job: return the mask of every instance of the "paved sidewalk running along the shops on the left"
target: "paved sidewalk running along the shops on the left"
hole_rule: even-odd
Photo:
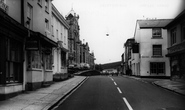
[[[0,101],[0,110],[48,110],[82,84],[87,77],[74,76],[36,91],[26,91],[13,98]]]

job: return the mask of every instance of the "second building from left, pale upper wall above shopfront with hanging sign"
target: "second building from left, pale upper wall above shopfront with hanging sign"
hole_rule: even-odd
[[[57,39],[51,34],[51,0],[24,0],[26,40],[26,90],[35,90],[53,81],[53,48]]]

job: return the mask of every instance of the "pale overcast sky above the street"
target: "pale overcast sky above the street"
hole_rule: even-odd
[[[96,64],[121,61],[124,43],[134,36],[136,20],[174,19],[185,9],[184,0],[53,0],[52,3],[64,17],[71,9],[79,15],[80,40],[88,42]]]

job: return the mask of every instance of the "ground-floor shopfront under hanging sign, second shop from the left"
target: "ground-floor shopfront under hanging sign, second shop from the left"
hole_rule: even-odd
[[[26,40],[26,90],[36,90],[53,81],[52,48],[56,46],[41,33],[30,31]]]

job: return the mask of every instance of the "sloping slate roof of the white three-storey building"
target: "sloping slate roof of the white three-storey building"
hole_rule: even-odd
[[[137,20],[140,28],[165,27],[172,19]]]

